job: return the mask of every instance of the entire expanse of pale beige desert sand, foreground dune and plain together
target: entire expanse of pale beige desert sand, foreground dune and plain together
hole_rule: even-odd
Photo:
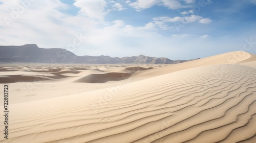
[[[255,55],[231,52],[163,67],[4,67],[5,82],[44,81],[36,96],[10,99],[0,142],[256,142],[255,65]],[[10,94],[27,83],[9,83]]]

